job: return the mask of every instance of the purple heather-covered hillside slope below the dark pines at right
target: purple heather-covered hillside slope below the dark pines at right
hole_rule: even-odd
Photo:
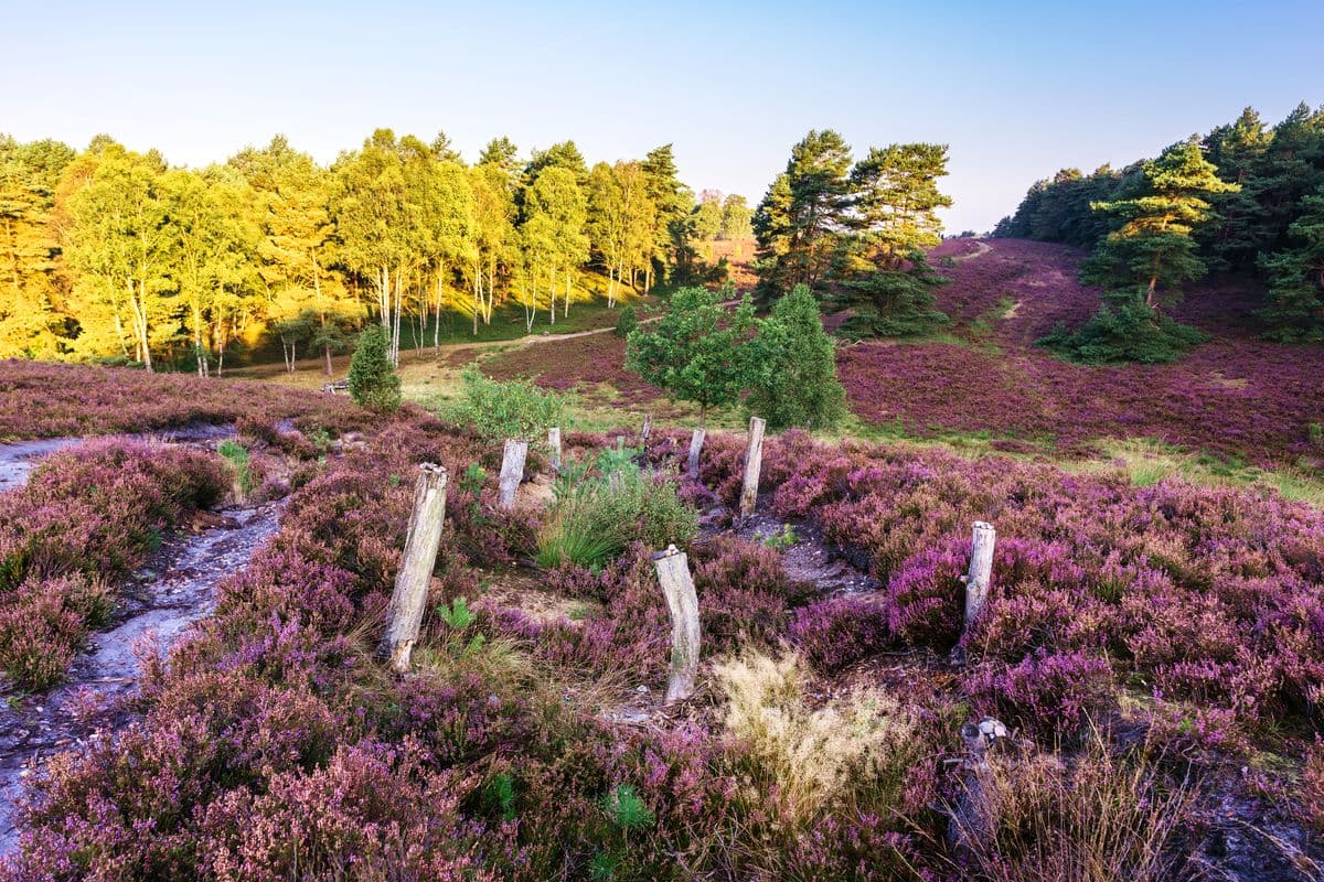
[[[951,279],[939,305],[956,341],[843,348],[842,382],[870,424],[914,434],[981,432],[1004,447],[1088,452],[1100,439],[1152,438],[1260,463],[1324,458],[1324,349],[1254,337],[1254,292],[1193,286],[1174,312],[1211,335],[1174,365],[1080,366],[1033,346],[1083,321],[1099,291],[1076,282],[1082,253],[1022,239],[957,239],[935,250]],[[1198,317],[1197,317],[1198,316]]]

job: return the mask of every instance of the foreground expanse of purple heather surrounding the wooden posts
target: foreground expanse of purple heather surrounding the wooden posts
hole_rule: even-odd
[[[556,492],[531,463],[502,512],[499,444],[414,409],[320,448],[241,428],[273,471],[295,463],[279,532],[150,661],[136,722],[36,776],[0,878],[1166,878],[1205,854],[1215,796],[1267,824],[1280,793],[1274,822],[1319,822],[1324,516],[1304,505],[786,432],[760,512],[792,529],[768,543],[727,508],[736,435],[710,438],[694,481],[687,432],[620,452],[567,432]],[[451,475],[448,520],[397,677],[375,647],[421,461]],[[49,473],[28,489],[90,483]],[[539,561],[560,499],[636,481],[696,506],[698,534],[641,509],[629,525],[655,530],[600,559]],[[181,483],[154,510],[214,501]],[[1000,538],[965,629],[974,520]],[[651,553],[673,536],[703,653],[698,694],[667,707]],[[792,578],[805,543],[878,588]],[[97,604],[83,575],[66,606]],[[955,760],[985,714],[1016,750],[980,778]],[[960,807],[977,780],[1002,809],[976,848]]]

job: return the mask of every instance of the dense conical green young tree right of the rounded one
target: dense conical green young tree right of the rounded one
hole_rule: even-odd
[[[751,376],[745,410],[772,428],[829,428],[846,414],[846,391],[837,380],[837,348],[824,331],[818,300],[797,284],[759,323],[749,344]]]

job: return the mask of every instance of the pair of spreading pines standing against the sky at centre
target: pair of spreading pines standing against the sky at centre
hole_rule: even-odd
[[[846,336],[914,336],[947,321],[943,282],[924,250],[941,241],[945,144],[871,147],[859,160],[831,130],[790,151],[753,217],[760,295],[808,286],[831,311],[850,311]]]

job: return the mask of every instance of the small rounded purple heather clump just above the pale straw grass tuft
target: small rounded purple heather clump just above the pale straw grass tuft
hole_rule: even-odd
[[[796,610],[790,643],[825,673],[879,652],[888,639],[887,604],[878,596],[839,596]]]

